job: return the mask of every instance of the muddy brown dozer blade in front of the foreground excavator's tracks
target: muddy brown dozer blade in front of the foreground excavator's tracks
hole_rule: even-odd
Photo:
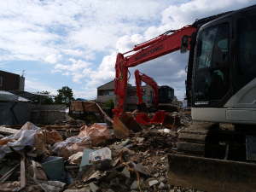
[[[256,189],[256,165],[168,154],[168,184],[207,192],[249,192]]]

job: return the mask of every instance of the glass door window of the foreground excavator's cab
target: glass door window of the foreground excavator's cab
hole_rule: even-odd
[[[206,29],[199,39],[196,101],[221,100],[230,90],[229,26]]]

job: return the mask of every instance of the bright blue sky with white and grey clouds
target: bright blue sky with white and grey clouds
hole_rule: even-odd
[[[114,79],[116,55],[195,19],[245,8],[255,0],[2,0],[0,69],[25,70],[27,91],[62,86],[92,99]],[[183,98],[188,53],[179,51],[133,67]]]

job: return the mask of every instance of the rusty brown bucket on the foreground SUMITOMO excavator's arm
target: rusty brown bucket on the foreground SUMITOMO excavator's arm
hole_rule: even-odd
[[[113,133],[119,139],[131,136],[132,133],[143,131],[141,125],[133,118],[131,113],[113,118]]]

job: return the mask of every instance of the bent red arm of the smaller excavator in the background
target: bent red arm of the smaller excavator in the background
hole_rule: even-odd
[[[152,93],[153,100],[154,100],[154,106],[158,105],[158,85],[154,81],[153,78],[148,77],[147,75],[141,73],[136,70],[135,71],[135,79],[136,79],[136,89],[137,89],[137,97],[139,102],[137,102],[137,105],[143,104],[143,94],[142,94],[142,81],[146,84],[149,84],[152,89],[154,90]]]

